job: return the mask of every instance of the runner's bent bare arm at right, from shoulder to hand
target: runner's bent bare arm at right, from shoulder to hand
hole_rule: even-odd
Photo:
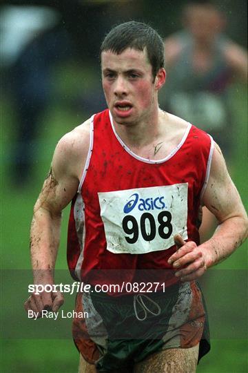
[[[215,145],[203,203],[216,216],[218,227],[214,235],[198,247],[195,242],[184,242],[176,236],[180,249],[169,258],[169,263],[178,269],[176,276],[183,281],[202,276],[207,268],[225,260],[247,238],[247,214],[218,145]],[[183,266],[185,268],[180,269]]]

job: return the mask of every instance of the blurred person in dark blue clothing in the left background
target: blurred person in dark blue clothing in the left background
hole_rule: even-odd
[[[10,71],[10,84],[17,114],[12,183],[26,187],[32,180],[37,157],[37,135],[51,99],[51,70],[70,58],[72,42],[60,27],[43,32],[21,52]]]

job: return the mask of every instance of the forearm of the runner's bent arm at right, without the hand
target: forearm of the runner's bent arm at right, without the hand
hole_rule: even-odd
[[[200,245],[207,267],[212,267],[230,256],[247,238],[247,219],[234,217],[218,225],[214,235]]]

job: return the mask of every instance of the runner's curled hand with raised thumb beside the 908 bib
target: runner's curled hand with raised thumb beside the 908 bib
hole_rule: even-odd
[[[174,242],[178,250],[169,257],[168,263],[176,269],[175,276],[183,282],[193,281],[203,276],[207,265],[205,256],[196,242],[185,242],[180,234],[174,236]]]

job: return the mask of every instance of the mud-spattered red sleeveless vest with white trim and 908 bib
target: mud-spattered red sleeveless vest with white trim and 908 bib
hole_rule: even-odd
[[[172,153],[149,161],[125,146],[109,110],[94,115],[68,225],[72,276],[96,285],[116,283],[116,270],[132,282],[138,269],[170,269],[166,283],[176,283],[167,263],[176,251],[173,236],[199,244],[198,210],[213,149],[211,137],[188,124]],[[115,271],[106,278],[108,270]]]

